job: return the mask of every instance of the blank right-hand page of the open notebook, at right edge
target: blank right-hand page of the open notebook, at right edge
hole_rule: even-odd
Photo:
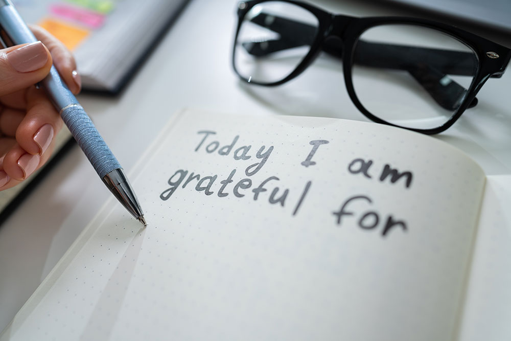
[[[511,175],[487,177],[459,339],[511,339]]]

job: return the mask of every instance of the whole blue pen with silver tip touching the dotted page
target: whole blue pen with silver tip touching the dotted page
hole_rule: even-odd
[[[37,39],[9,0],[0,0],[0,37],[6,47],[36,42]],[[106,187],[135,219],[147,225],[138,199],[117,158],[99,134],[83,107],[52,65],[41,81],[62,120],[78,142]]]

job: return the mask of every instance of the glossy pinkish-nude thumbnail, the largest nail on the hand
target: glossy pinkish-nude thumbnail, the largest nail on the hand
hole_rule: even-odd
[[[48,53],[42,42],[37,41],[9,52],[7,60],[16,71],[31,72],[48,62]]]

